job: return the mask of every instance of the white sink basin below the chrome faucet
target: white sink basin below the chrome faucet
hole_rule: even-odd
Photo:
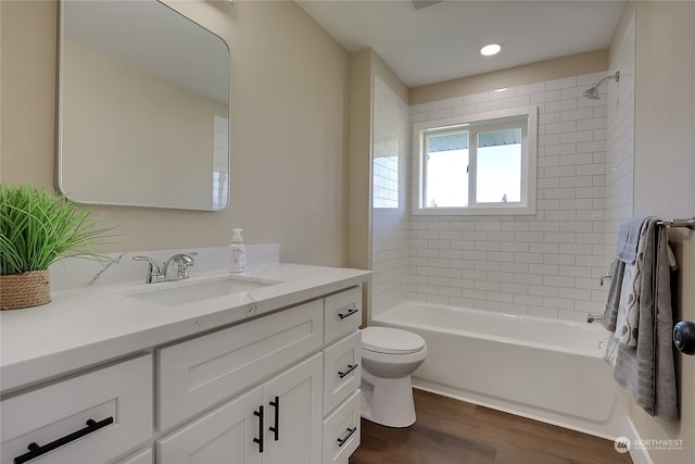
[[[202,281],[170,281],[164,284],[151,284],[151,289],[138,293],[129,293],[129,298],[140,301],[167,306],[194,303],[207,300],[242,293],[256,288],[281,284],[273,280],[245,279],[241,277],[219,277]],[[161,286],[157,288],[157,286]]]

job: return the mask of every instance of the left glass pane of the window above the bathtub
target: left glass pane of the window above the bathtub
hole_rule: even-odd
[[[427,137],[424,208],[468,205],[468,133]]]

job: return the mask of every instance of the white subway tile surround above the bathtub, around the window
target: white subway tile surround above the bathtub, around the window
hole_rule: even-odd
[[[611,221],[618,222],[632,211],[627,205],[632,199],[627,159],[632,153],[626,126],[633,111],[624,103],[628,96],[623,97],[623,92],[632,95],[631,90],[620,89],[616,101],[615,83],[604,83],[601,100],[582,97],[605,75],[607,72],[409,108],[406,141],[397,148],[401,204],[388,212],[374,210],[372,313],[399,299],[574,321],[585,321],[589,312],[603,312],[606,290],[598,286],[598,277],[607,269],[615,246],[608,241],[615,235],[606,230],[606,209]],[[383,83],[375,85],[375,100],[389,92]],[[392,92],[386,100],[375,111],[381,111],[383,104],[392,109],[402,104]],[[609,102],[619,113],[610,128]],[[538,104],[540,110],[535,215],[409,215],[410,197],[405,192],[413,188],[413,123],[528,104]],[[397,120],[392,113],[389,117]],[[375,138],[377,134],[381,136],[375,130]],[[609,137],[619,147],[620,161],[616,162],[624,168],[607,173],[615,158],[607,155]]]

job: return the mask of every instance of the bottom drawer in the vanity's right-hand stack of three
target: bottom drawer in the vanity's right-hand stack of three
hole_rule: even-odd
[[[359,390],[324,419],[324,464],[348,463],[359,446]]]

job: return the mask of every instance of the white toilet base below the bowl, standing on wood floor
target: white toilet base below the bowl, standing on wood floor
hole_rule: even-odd
[[[362,417],[387,427],[415,424],[415,402],[410,376],[375,377],[362,371]]]

